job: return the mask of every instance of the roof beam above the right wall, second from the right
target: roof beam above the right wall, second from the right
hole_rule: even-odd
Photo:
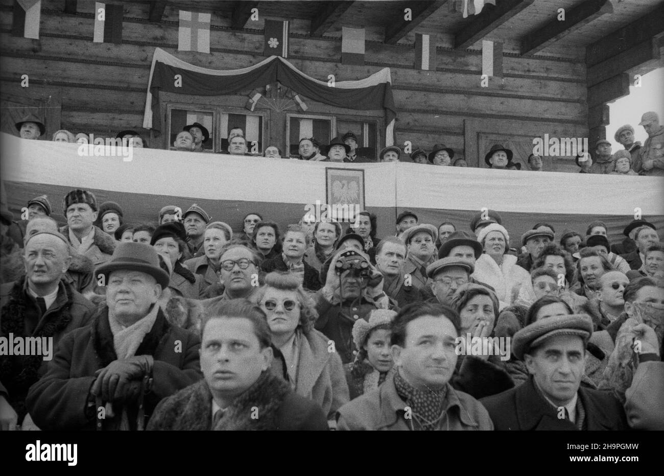
[[[559,21],[558,15],[556,15],[544,27],[538,27],[525,35],[521,40],[521,54],[537,53],[606,13],[614,13],[614,6],[610,0],[584,1],[571,10],[565,11],[564,20]]]

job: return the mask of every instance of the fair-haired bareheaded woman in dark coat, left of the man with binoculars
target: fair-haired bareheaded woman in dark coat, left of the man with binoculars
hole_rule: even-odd
[[[322,285],[317,270],[303,260],[304,253],[309,246],[307,230],[300,225],[288,225],[282,240],[281,254],[272,260],[262,262],[261,269],[266,273],[279,271],[293,274],[297,276],[307,291],[321,289]]]

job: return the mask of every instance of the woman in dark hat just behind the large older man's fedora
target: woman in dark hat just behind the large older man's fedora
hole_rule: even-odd
[[[158,254],[168,258],[171,264],[169,289],[174,296],[199,299],[205,290],[205,281],[200,275],[193,274],[182,265],[187,252],[185,226],[180,222],[169,222],[157,226],[150,240]]]

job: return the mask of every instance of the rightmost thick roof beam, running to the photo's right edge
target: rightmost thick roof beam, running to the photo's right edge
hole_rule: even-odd
[[[586,47],[586,65],[594,66],[664,33],[664,3],[638,20]]]

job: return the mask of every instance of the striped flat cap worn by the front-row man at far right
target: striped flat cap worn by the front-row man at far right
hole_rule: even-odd
[[[586,314],[545,317],[515,333],[512,338],[512,353],[523,360],[524,354],[556,335],[578,335],[583,339],[585,348],[592,335],[592,321]]]

